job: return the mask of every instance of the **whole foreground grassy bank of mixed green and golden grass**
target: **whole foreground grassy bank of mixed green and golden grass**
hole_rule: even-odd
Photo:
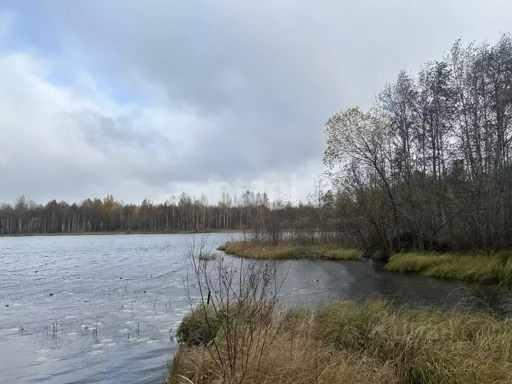
[[[165,382],[512,382],[509,319],[385,301],[268,308],[187,315]]]

